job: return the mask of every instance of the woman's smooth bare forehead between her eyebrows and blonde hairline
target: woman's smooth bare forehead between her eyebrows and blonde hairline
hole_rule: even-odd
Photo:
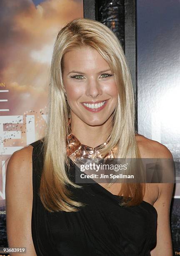
[[[77,69],[81,71],[90,69],[109,68],[105,59],[98,51],[90,46],[75,47],[63,56],[64,69]],[[83,69],[83,70],[82,70]]]

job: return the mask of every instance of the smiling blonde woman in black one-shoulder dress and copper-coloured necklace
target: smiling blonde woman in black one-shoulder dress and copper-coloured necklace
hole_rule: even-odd
[[[173,255],[173,184],[75,183],[80,158],[173,159],[135,131],[130,71],[114,33],[89,19],[62,28],[49,90],[45,136],[8,162],[9,246],[43,256]]]

